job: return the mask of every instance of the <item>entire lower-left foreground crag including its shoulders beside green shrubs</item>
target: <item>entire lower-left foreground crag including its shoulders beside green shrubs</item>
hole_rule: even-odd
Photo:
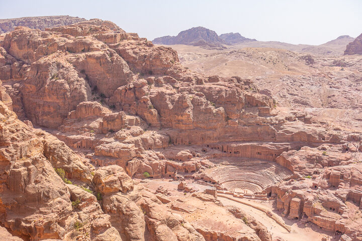
[[[0,106],[1,224],[13,234],[33,241],[63,240],[75,222],[86,222],[84,228],[92,229],[92,240],[121,241],[96,197],[66,185],[55,172],[62,169],[65,177],[90,183],[90,171],[80,158],[55,137],[20,122],[3,102]],[[79,204],[74,206],[72,201]],[[92,216],[95,214],[97,217]],[[4,240],[17,240],[1,235],[5,235]]]

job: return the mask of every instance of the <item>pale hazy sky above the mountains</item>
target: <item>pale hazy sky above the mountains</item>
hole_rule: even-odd
[[[110,20],[149,40],[197,26],[314,45],[362,33],[362,0],[0,0],[0,19],[53,15]]]

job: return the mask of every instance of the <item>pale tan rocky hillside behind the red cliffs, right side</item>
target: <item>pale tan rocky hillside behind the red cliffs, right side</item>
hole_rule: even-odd
[[[325,57],[274,48],[211,52],[172,47],[184,66],[210,75],[250,78],[280,106],[354,109],[357,113],[362,109],[360,56]]]

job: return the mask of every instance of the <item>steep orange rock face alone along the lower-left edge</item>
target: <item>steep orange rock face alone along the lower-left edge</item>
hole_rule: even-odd
[[[65,184],[30,128],[3,103],[1,113],[3,225],[32,240],[64,237],[63,223],[72,211]]]

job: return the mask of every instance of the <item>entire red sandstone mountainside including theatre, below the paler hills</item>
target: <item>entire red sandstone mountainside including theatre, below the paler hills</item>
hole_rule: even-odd
[[[193,72],[94,19],[15,28],[0,79],[0,237],[362,235],[360,129],[280,107],[250,78]]]

